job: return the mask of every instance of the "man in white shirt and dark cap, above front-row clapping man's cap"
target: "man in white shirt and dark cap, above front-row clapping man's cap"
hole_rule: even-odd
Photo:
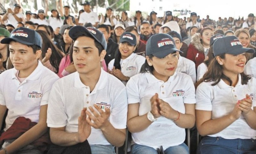
[[[97,13],[90,9],[90,2],[85,1],[82,5],[84,6],[84,12],[80,14],[78,21],[79,25],[91,23],[94,27],[97,27],[99,24],[99,18]]]

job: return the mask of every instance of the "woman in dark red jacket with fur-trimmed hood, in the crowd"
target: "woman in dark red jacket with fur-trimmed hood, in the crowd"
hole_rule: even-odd
[[[207,54],[210,48],[210,39],[213,36],[213,31],[210,27],[201,30],[200,34],[196,33],[192,37],[192,41],[188,46],[187,57],[192,60],[197,66],[208,59]]]

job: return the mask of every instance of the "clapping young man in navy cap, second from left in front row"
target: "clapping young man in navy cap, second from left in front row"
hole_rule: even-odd
[[[107,42],[99,30],[75,26],[69,36],[77,72],[53,84],[47,125],[56,145],[50,152],[114,154],[114,146],[122,146],[126,137],[125,86],[101,69]]]

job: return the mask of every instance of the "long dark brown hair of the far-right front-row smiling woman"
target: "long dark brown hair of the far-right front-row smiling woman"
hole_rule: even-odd
[[[220,54],[220,58],[225,59],[225,53]],[[247,84],[248,81],[251,79],[250,75],[246,75],[243,73],[241,74],[241,84]],[[212,86],[217,85],[221,79],[225,79],[229,82],[229,86],[232,85],[232,81],[230,78],[228,78],[225,74],[222,73],[222,65],[220,65],[216,59],[216,57],[211,61],[209,67],[208,67],[208,71],[204,74],[203,78],[200,79],[198,82],[196,82],[196,87],[202,83],[202,82],[211,82],[214,81],[214,83],[212,83]]]

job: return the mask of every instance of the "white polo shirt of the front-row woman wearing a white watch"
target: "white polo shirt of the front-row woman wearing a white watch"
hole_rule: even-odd
[[[139,116],[151,110],[150,98],[155,93],[180,113],[185,113],[184,103],[196,103],[195,87],[191,77],[180,72],[175,72],[166,82],[156,79],[150,73],[140,73],[127,82],[126,90],[128,104],[140,104]],[[183,143],[185,135],[184,128],[178,127],[172,120],[161,116],[145,130],[132,133],[132,140],[154,149],[162,145],[165,150]]]

